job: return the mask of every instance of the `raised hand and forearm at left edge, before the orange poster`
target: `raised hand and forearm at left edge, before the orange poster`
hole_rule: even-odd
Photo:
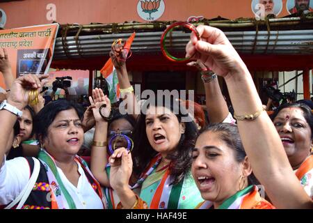
[[[0,49],[0,72],[2,72],[6,89],[10,89],[15,78],[12,74],[11,64],[6,49]]]

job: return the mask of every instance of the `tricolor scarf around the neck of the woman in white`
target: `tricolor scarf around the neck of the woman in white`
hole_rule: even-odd
[[[38,159],[42,164],[44,164],[45,169],[47,171],[47,176],[49,180],[50,185],[50,192],[51,192],[51,208],[52,209],[77,209],[72,197],[70,196],[70,193],[67,192],[65,185],[63,185],[63,182],[61,180],[60,175],[58,174],[58,169],[56,168],[56,161],[54,160],[54,157],[49,155],[47,151],[44,149],[41,149],[38,154]],[[90,182],[90,185],[92,187],[96,187],[97,194],[99,194],[100,199],[102,200],[102,191],[99,183],[95,178],[93,177],[93,174],[91,174],[90,170],[88,169],[88,166],[86,162],[81,159],[78,155],[75,156],[74,160],[81,165],[83,170],[86,174],[90,175],[90,177],[93,179],[93,182]],[[103,200],[102,200],[103,202]]]

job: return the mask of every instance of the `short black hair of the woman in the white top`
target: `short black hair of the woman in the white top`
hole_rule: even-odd
[[[80,119],[83,117],[83,108],[67,100],[54,100],[43,107],[33,121],[33,130],[37,139],[40,140],[40,137],[41,139],[45,139],[48,134],[48,128],[58,113],[69,109],[74,109]]]

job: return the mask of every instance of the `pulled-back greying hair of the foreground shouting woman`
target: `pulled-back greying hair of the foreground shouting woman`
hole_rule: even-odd
[[[198,137],[204,132],[215,132],[218,138],[225,142],[227,147],[232,148],[236,162],[243,162],[243,160],[245,160],[246,152],[243,148],[237,125],[230,123],[214,123],[200,130]],[[248,184],[259,184],[259,182],[253,174],[250,174],[250,176],[248,176]]]

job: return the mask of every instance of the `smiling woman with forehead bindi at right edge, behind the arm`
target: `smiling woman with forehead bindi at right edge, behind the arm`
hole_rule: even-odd
[[[284,104],[271,117],[289,163],[305,192],[313,199],[313,116],[304,104]]]

